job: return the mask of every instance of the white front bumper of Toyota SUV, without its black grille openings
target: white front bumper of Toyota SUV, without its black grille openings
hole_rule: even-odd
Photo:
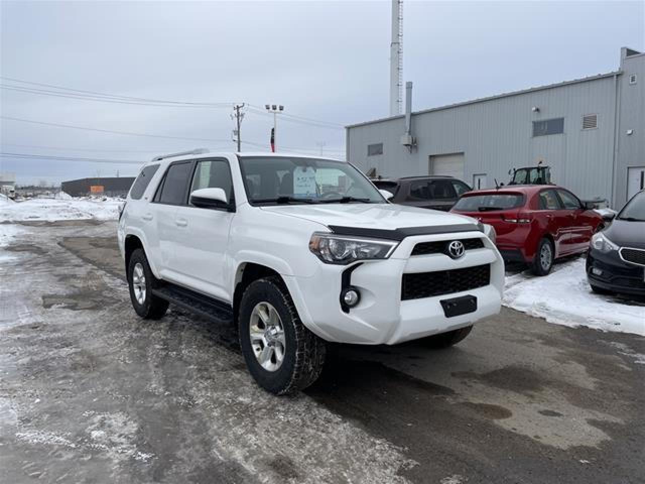
[[[339,296],[342,272],[348,267],[321,263],[311,277],[283,276],[303,323],[328,341],[393,345],[471,325],[499,313],[504,288],[504,262],[495,245],[481,232],[464,232],[459,239],[482,238],[484,248],[467,250],[461,259],[444,254],[410,256],[417,243],[450,241],[450,235],[406,237],[389,259],[364,262],[351,274],[361,293],[357,306],[344,312]],[[456,237],[455,237],[456,238]],[[403,274],[437,272],[490,265],[490,283],[442,296],[401,300]],[[446,318],[441,301],[477,297],[477,310]]]

